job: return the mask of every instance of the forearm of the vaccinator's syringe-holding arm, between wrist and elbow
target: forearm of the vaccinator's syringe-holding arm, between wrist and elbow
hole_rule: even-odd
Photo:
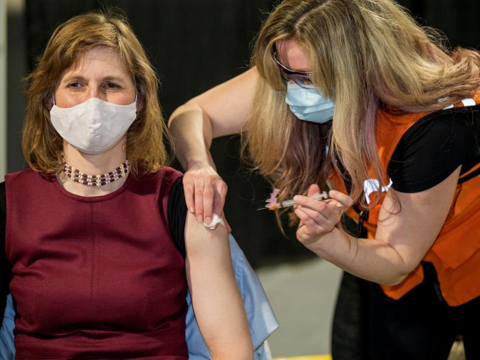
[[[413,270],[385,241],[355,238],[338,228],[305,246],[343,270],[380,284],[397,284]]]

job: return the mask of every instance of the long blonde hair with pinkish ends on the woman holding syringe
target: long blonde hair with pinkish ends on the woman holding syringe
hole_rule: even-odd
[[[307,55],[312,82],[335,103],[331,130],[302,122],[287,108],[272,56],[277,40],[294,40]],[[251,65],[260,79],[243,151],[282,189],[280,198],[305,192],[310,183],[324,185],[328,164],[340,172],[339,160],[351,178],[351,197],[360,201],[369,168],[385,185],[375,143],[379,103],[432,111],[480,85],[477,51],[449,54],[434,30],[418,26],[392,0],[284,0],[264,22]]]

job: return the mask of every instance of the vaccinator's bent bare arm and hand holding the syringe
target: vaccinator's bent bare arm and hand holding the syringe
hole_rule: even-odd
[[[361,278],[386,285],[401,282],[421,261],[438,236],[450,209],[460,167],[437,185],[416,193],[390,188],[383,200],[374,239],[355,238],[335,227],[338,206],[351,198],[331,190],[335,201],[296,195],[301,222],[297,238],[308,249]],[[318,192],[312,185],[308,194]],[[400,208],[401,205],[401,208]]]

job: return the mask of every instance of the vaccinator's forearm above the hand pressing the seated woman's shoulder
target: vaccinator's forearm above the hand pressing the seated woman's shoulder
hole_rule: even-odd
[[[213,137],[211,122],[198,105],[187,102],[178,107],[170,116],[168,127],[183,169],[195,164],[209,164],[215,168],[209,151]]]

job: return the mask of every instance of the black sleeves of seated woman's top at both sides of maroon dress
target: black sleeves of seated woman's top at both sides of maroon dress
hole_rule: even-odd
[[[162,206],[161,199],[158,202]],[[167,220],[171,237],[178,251],[185,256],[185,220],[187,208],[183,194],[182,178],[179,177],[172,184],[168,193]],[[6,305],[6,296],[10,292],[9,284],[12,278],[11,264],[6,258],[5,251],[5,224],[6,224],[6,195],[5,183],[0,182],[0,323]],[[1,325],[0,325],[1,326]]]

